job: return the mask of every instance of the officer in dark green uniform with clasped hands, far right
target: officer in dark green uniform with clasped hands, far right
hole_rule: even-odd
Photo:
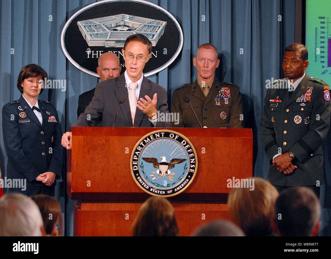
[[[308,76],[308,65],[306,46],[286,47],[286,78],[276,80],[267,90],[260,129],[270,161],[267,179],[279,192],[306,186],[319,197],[319,185],[324,182],[321,142],[330,124],[330,87]]]

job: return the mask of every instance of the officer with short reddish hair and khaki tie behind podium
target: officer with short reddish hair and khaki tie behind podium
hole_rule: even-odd
[[[171,112],[179,113],[179,123],[171,122],[172,127],[200,127],[199,122],[208,128],[242,127],[243,105],[239,87],[214,79],[219,65],[217,55],[212,44],[205,43],[198,48],[193,59],[198,71],[197,80],[178,87],[172,95]]]

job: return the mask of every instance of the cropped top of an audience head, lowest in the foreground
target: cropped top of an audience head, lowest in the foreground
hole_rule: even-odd
[[[193,237],[245,237],[235,224],[226,220],[215,220],[198,228]]]

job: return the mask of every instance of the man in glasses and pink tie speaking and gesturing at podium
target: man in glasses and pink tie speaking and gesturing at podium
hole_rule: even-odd
[[[151,53],[152,43],[146,36],[127,37],[122,49],[126,71],[97,84],[91,103],[72,126],[91,126],[101,119],[104,127],[170,127],[157,117],[158,111],[168,112],[166,89],[143,75]],[[71,137],[71,132],[63,134],[63,147],[71,149]]]

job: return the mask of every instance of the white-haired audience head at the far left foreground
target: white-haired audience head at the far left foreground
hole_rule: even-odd
[[[45,236],[37,204],[24,194],[5,194],[0,199],[0,236]]]

